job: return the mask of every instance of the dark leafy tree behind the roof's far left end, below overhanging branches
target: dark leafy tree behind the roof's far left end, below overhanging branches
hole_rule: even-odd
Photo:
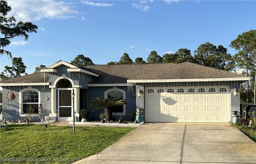
[[[22,74],[26,74],[26,66],[22,62],[22,58],[13,58],[12,66],[5,66],[4,72],[1,72],[0,78],[1,80],[6,80],[9,78],[15,78],[22,76]]]

